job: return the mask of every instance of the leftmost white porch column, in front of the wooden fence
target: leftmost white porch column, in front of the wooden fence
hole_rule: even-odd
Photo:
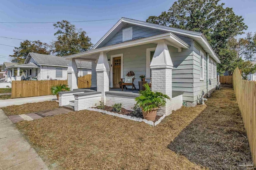
[[[77,66],[75,59],[70,59],[68,63],[68,86],[70,87],[70,90],[77,89]]]

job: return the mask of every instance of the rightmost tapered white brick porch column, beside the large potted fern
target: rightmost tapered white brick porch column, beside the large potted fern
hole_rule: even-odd
[[[151,89],[162,92],[172,98],[172,59],[165,40],[158,41],[156,51],[150,63]],[[166,106],[158,111],[158,115],[170,115],[172,113],[171,101],[166,100]]]

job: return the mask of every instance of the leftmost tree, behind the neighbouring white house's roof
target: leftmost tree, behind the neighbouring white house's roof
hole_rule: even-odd
[[[14,47],[14,54],[9,55],[12,57],[12,62],[14,63],[24,63],[28,53],[40,53],[47,54],[51,53],[50,47],[47,43],[42,43],[41,41],[28,41],[25,40],[20,42],[20,47]]]

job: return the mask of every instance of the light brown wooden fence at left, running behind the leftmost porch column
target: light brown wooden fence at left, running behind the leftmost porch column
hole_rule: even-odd
[[[78,88],[90,88],[91,77],[91,74],[78,77]],[[50,88],[57,84],[68,84],[68,80],[12,81],[12,98],[50,95]]]

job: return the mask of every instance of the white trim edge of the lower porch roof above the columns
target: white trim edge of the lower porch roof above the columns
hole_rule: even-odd
[[[109,45],[109,46],[101,47],[98,49],[92,49],[92,50],[84,51],[82,53],[68,55],[63,58],[64,59],[72,59],[72,58],[84,57],[86,55],[100,53],[101,51],[111,51],[111,50],[115,50],[115,49],[133,47],[135,45],[143,45],[143,44],[153,43],[153,42],[156,42],[161,39],[167,39],[167,40],[169,39],[169,40],[175,41],[177,43],[176,45],[179,45],[181,48],[189,49],[189,47],[190,47],[190,45],[185,43],[182,39],[178,38],[173,33],[163,33],[160,35],[154,35],[152,37],[146,37],[146,38],[137,39],[134,41],[126,41],[126,42],[115,44],[115,45]],[[172,44],[173,43],[170,43],[168,45],[172,45]]]

